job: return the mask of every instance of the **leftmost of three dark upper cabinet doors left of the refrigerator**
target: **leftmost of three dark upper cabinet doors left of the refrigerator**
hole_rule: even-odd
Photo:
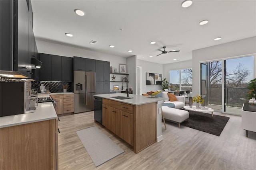
[[[40,53],[42,66],[40,69],[40,81],[52,81],[52,56]]]

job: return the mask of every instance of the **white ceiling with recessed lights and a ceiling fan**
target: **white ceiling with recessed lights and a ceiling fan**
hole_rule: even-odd
[[[256,36],[256,0],[193,0],[188,8],[182,8],[182,2],[32,0],[34,35],[38,40],[119,57],[137,55],[138,59],[160,64],[190,60],[195,49]],[[74,9],[86,15],[78,16]],[[209,22],[199,25],[202,20]],[[216,37],[222,39],[214,41]],[[89,44],[92,40],[98,42]],[[166,51],[180,52],[155,57],[163,46]]]

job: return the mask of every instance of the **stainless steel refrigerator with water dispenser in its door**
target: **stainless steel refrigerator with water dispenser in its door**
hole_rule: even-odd
[[[94,110],[95,72],[74,71],[74,113]]]

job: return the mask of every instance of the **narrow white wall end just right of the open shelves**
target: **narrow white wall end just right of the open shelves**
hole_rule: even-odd
[[[129,88],[132,88],[132,93],[136,94],[137,56],[134,55],[132,57],[128,57],[126,59],[126,64],[128,65],[128,67],[126,69],[129,73],[129,76],[128,76]]]

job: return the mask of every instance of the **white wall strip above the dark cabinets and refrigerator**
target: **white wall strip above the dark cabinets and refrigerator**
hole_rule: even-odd
[[[109,61],[110,66],[113,67],[113,71],[114,71],[114,68],[116,68],[118,72],[119,72],[119,64],[126,64],[126,58],[124,57],[98,53],[98,52],[89,51],[86,49],[70,47],[67,45],[60,45],[56,43],[36,40],[36,46],[38,49],[38,53],[46,53],[46,54],[60,55],[60,56],[66,56],[66,57],[76,56],[76,57],[84,57],[88,59]],[[126,65],[126,67],[127,66],[128,65]]]

